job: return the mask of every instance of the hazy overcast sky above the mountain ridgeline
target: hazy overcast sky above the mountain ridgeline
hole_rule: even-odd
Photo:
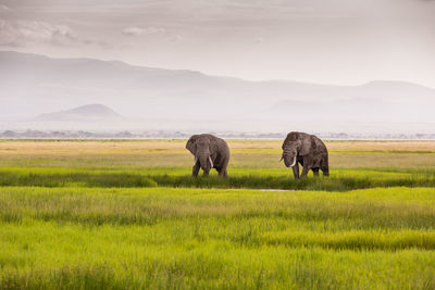
[[[435,1],[0,0],[0,49],[246,79],[435,88]]]

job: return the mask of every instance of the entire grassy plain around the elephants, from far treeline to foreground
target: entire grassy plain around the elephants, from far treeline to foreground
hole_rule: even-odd
[[[281,140],[0,141],[0,289],[435,289],[435,142],[327,141],[295,180]]]

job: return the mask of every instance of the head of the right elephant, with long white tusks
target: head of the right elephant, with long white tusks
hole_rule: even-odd
[[[287,135],[287,138],[283,143],[283,155],[281,160],[284,160],[284,164],[287,167],[293,167],[298,162],[298,156],[304,156],[313,150],[315,142],[311,135],[291,131]]]

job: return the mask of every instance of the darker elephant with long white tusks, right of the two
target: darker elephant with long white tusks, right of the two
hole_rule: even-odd
[[[299,178],[299,163],[303,166],[300,177],[306,177],[311,169],[314,176],[319,176],[319,169],[323,176],[330,176],[330,164],[326,146],[314,135],[300,131],[291,131],[283,142],[282,161],[287,167],[293,168],[295,178]]]

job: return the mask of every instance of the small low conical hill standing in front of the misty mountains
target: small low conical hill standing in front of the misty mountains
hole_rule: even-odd
[[[66,111],[40,114],[35,118],[35,121],[45,122],[89,122],[115,119],[122,119],[122,116],[103,104],[82,105]]]

